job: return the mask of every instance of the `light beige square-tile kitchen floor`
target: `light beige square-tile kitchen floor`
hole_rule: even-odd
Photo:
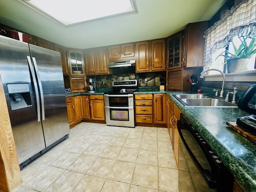
[[[178,192],[167,128],[82,122],[21,173],[13,192]]]

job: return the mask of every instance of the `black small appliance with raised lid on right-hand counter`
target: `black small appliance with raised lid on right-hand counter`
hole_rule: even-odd
[[[256,93],[256,84],[249,86],[238,101],[238,108],[250,113],[250,116],[240,117],[236,124],[243,130],[256,136],[256,108],[255,105],[248,104]]]

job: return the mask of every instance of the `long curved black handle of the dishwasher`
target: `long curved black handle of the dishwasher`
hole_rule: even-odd
[[[181,126],[186,126],[186,124],[184,124],[181,120],[177,120],[177,125],[178,125],[178,132],[179,132],[180,138],[182,139],[184,146],[186,147],[186,150],[189,152],[189,154],[190,154],[191,158],[193,159],[194,163],[196,164],[197,168],[200,169],[200,172],[202,174],[204,174],[205,179],[208,180],[208,186],[209,187],[211,186],[210,188],[217,188],[217,181],[214,180],[214,178],[209,170],[206,170],[201,166],[201,164],[198,162],[198,160],[196,159],[196,157],[190,150],[185,138],[182,135],[182,132],[180,130]]]

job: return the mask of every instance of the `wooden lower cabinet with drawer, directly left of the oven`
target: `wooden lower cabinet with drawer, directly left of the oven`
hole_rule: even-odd
[[[90,95],[92,120],[105,120],[103,95]]]

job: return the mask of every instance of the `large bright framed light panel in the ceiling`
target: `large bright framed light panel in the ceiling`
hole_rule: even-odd
[[[134,0],[18,0],[68,27],[136,14]]]

